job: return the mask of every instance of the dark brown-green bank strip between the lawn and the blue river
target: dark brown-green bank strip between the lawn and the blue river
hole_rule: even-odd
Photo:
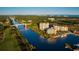
[[[16,29],[16,39],[20,45],[21,50],[23,51],[32,51],[33,49],[35,49],[35,47],[31,44],[29,44],[29,42],[27,41],[27,39],[25,39],[23,37],[23,35],[19,32],[18,29]]]

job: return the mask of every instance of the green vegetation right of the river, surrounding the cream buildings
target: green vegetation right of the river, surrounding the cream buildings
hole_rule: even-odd
[[[60,17],[55,17],[54,21],[48,20],[48,16],[36,16],[36,15],[29,15],[29,16],[16,16],[16,18],[20,21],[20,20],[24,20],[25,23],[28,23],[28,20],[32,20],[32,24],[30,26],[28,26],[29,28],[31,28],[33,31],[37,32],[39,35],[41,35],[44,38],[49,38],[50,35],[48,35],[45,31],[41,31],[39,29],[39,23],[40,22],[49,22],[51,24],[57,24],[57,25],[71,25],[71,27],[69,27],[70,31],[74,31],[74,30],[79,30],[79,28],[77,26],[74,26],[74,24],[79,24],[79,21],[75,21],[75,20],[68,20],[67,17],[64,16],[60,16]],[[58,32],[61,33],[62,32]]]

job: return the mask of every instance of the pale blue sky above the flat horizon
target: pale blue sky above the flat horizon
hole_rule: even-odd
[[[0,7],[0,15],[79,15],[79,7]]]

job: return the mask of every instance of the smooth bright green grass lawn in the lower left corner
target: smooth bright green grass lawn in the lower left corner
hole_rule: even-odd
[[[19,50],[21,50],[14,35],[11,34],[10,28],[7,28],[4,30],[3,41],[0,42],[0,50],[1,51],[19,51]]]

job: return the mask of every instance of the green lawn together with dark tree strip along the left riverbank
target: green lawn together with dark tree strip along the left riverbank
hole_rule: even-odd
[[[8,27],[3,31],[0,51],[31,51],[33,48],[15,27]]]

